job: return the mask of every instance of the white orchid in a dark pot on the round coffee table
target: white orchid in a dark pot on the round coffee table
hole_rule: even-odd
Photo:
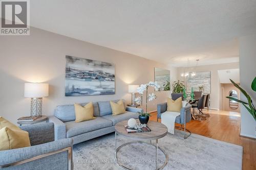
[[[139,120],[141,124],[147,124],[151,116],[150,113],[147,112],[147,101],[153,101],[154,99],[157,98],[156,94],[154,93],[147,94],[148,87],[154,87],[155,91],[160,90],[160,86],[155,82],[148,82],[147,84],[141,84],[140,87],[138,87],[137,92],[140,94],[140,96],[135,99],[135,102],[141,104],[141,112],[138,112],[140,114]],[[142,109],[142,95],[144,92],[146,92],[146,111],[145,112],[143,112],[143,109]]]

